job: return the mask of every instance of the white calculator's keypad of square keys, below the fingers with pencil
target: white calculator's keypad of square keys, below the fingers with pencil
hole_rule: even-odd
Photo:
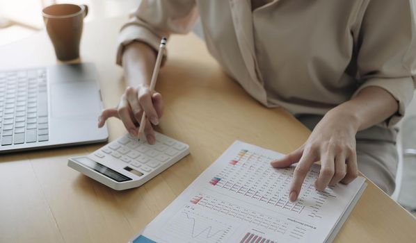
[[[175,159],[175,156],[186,149],[187,146],[160,133],[156,133],[155,137],[156,143],[151,145],[130,135],[125,135],[93,154],[102,159],[111,156],[130,167],[134,167],[143,174],[150,173],[164,163]]]

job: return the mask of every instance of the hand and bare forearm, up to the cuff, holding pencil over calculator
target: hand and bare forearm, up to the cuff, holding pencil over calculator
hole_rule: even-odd
[[[133,136],[138,135],[138,124],[143,110],[146,114],[145,135],[147,142],[154,144],[153,125],[159,124],[163,112],[161,94],[150,90],[150,75],[156,62],[156,52],[143,42],[131,42],[122,53],[122,67],[125,71],[127,88],[115,108],[103,110],[98,117],[98,126],[104,126],[106,119],[117,117]]]

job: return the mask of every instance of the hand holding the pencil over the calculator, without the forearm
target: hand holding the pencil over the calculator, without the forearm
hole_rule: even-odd
[[[161,94],[150,90],[147,85],[127,87],[118,106],[102,111],[98,118],[98,127],[104,126],[106,120],[110,117],[117,117],[122,120],[125,128],[132,136],[137,136],[143,110],[146,114],[144,133],[147,142],[154,144],[156,139],[152,124],[159,124],[159,119],[163,113],[163,101]]]

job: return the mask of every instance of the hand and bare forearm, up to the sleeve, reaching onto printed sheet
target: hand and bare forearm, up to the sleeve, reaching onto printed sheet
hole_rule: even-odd
[[[321,160],[315,182],[317,190],[338,182],[350,183],[358,176],[355,133],[388,121],[399,110],[398,101],[382,87],[365,87],[353,99],[333,108],[319,121],[305,144],[289,155],[271,162],[273,167],[289,167],[298,162],[289,189],[289,199],[298,199],[311,165]]]

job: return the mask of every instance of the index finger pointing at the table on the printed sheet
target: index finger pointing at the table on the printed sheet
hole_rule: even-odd
[[[301,192],[303,181],[309,171],[311,165],[314,163],[314,156],[312,151],[307,150],[303,151],[303,156],[299,160],[298,165],[294,170],[294,176],[292,178],[290,187],[289,187],[289,200],[296,201],[298,195]]]

